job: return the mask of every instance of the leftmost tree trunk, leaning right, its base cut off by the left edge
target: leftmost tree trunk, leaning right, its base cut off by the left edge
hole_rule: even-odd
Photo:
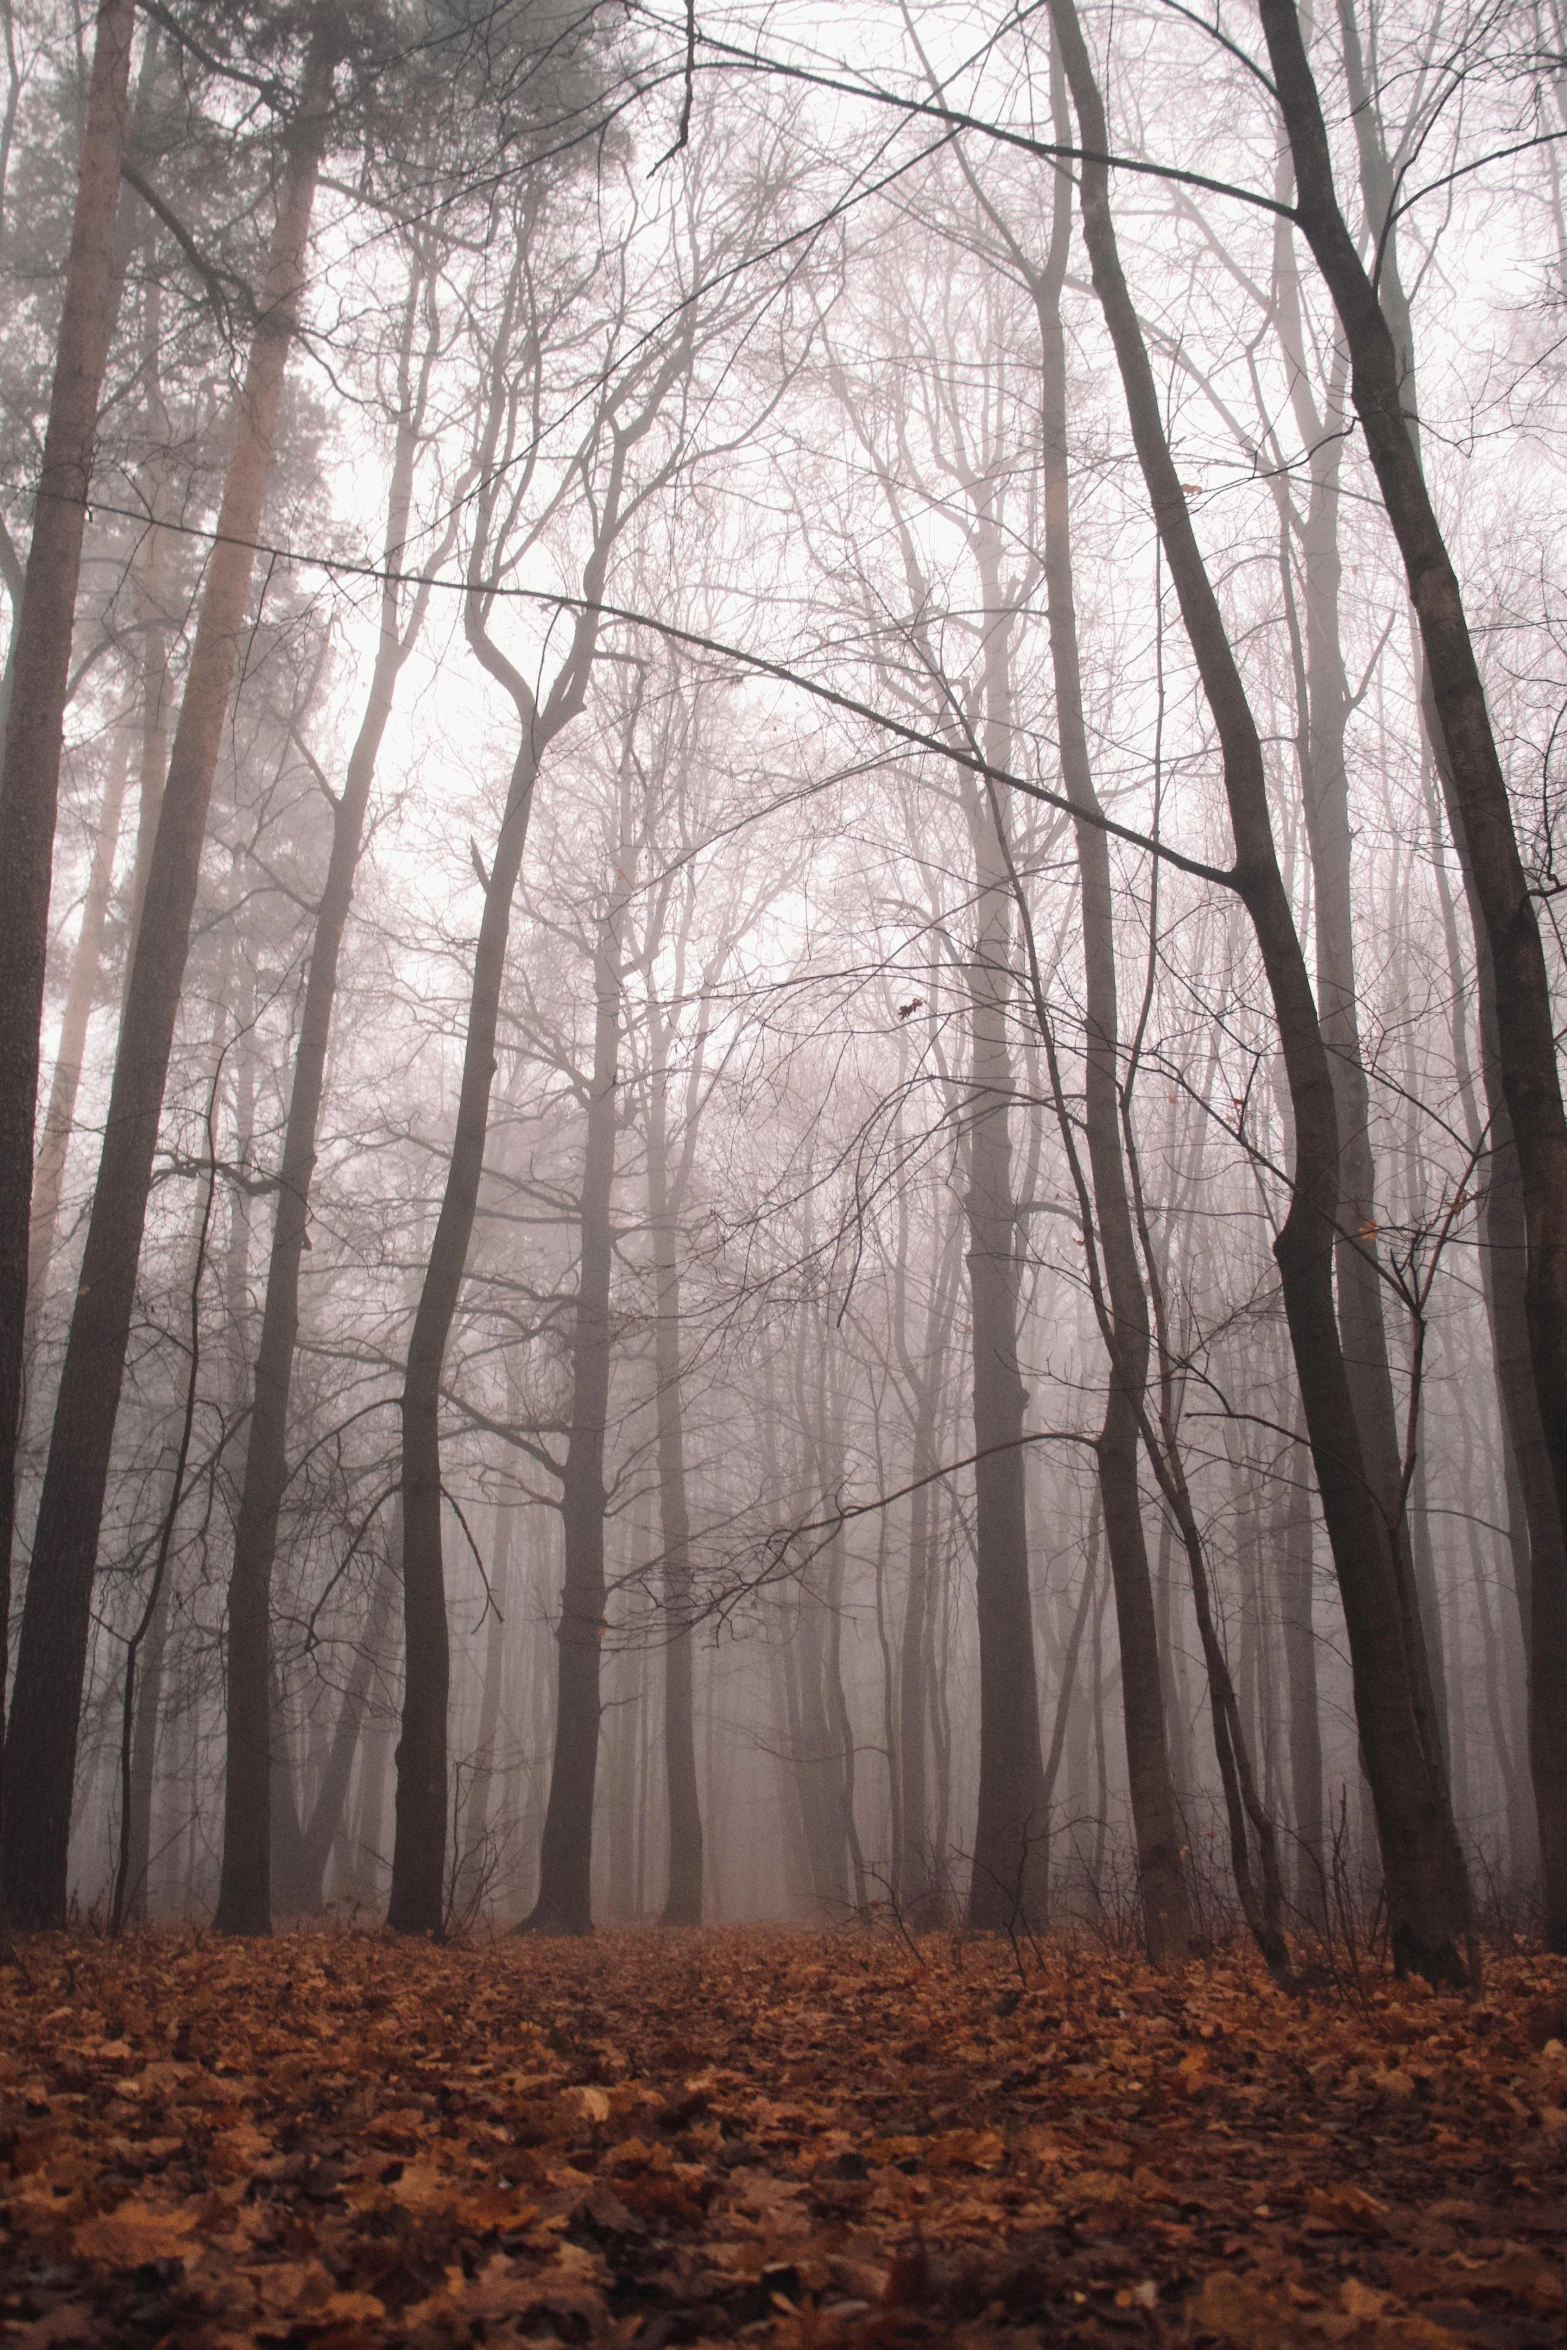
[[[49,881],[99,392],[115,289],[115,207],[132,75],[134,0],[101,0],[78,162],[66,301],[49,390],[33,543],[7,663],[0,766],[0,1629],[9,1624],[16,1441],[28,1316],[38,1050]],[[75,1741],[73,1741],[75,1744]],[[66,1810],[70,1788],[66,1786]],[[61,1861],[63,1878],[63,1861]],[[63,1904],[63,1894],[61,1894]],[[63,1913],[63,1908],[61,1908]]]

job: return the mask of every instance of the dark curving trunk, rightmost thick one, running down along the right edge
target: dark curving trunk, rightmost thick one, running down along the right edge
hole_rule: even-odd
[[[1367,456],[1405,562],[1426,656],[1433,740],[1452,778],[1457,834],[1497,999],[1497,1062],[1513,1123],[1525,1208],[1529,1363],[1567,1523],[1567,1112],[1555,1060],[1555,1015],[1529,877],[1497,754],[1464,595],[1431,505],[1400,355],[1377,287],[1349,233],[1332,153],[1294,0],[1259,0],[1273,87],[1294,157],[1294,216],[1332,294],[1351,355],[1351,392]],[[1558,1732],[1567,1687],[1567,1572],[1548,1544],[1529,1591],[1529,1760],[1546,1880],[1546,1941],[1567,1950],[1567,1741]]]

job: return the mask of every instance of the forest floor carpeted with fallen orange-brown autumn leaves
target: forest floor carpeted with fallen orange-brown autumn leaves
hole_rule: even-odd
[[[1567,1965],[787,1929],[47,1939],[0,1979],[0,2341],[1548,2350]]]

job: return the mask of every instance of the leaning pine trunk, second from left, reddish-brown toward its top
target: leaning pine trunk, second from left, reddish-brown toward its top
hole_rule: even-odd
[[[40,1927],[66,1922],[66,1847],[92,1577],[141,1231],[190,945],[211,778],[249,606],[254,545],[303,287],[315,181],[327,143],[331,75],[341,54],[336,14],[324,14],[320,26],[289,125],[261,317],[240,392],[218,533],[157,820],[146,919],[132,961],[103,1156],[33,1539],[7,1734],[16,1833],[7,1838],[5,1885],[16,1918]]]

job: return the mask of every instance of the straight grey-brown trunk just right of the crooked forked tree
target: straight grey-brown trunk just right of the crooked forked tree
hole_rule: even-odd
[[[571,1434],[561,1478],[559,1697],[550,1802],[538,1856],[531,1934],[592,1932],[592,1791],[599,1770],[599,1657],[604,1643],[604,1434],[608,1424],[611,1198],[616,1187],[616,1086],[620,1043],[620,928],[630,898],[632,846],[623,822],[611,900],[594,952],[592,1090],[583,1149],[583,1210],[576,1330],[571,1340]]]

